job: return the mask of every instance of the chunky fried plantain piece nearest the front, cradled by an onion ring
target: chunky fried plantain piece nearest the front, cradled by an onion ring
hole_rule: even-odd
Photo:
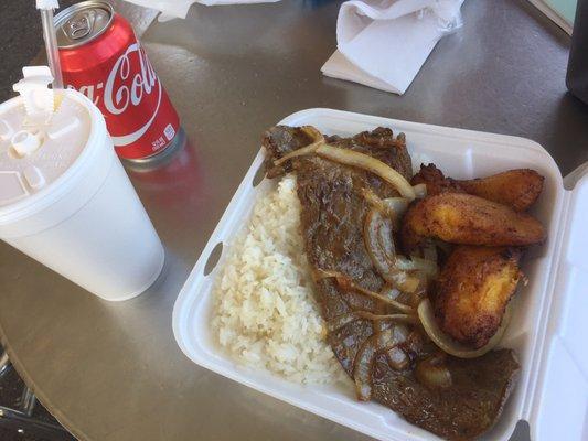
[[[457,247],[431,295],[441,330],[473,348],[485,345],[522,277],[520,258],[517,248]]]

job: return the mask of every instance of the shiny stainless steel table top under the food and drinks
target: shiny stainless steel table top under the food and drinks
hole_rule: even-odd
[[[542,143],[564,173],[588,159],[588,107],[564,85],[568,37],[525,1],[466,2],[463,29],[438,44],[403,97],[321,76],[338,8],[196,6],[188,20],[146,32],[189,139],[161,169],[129,170],[168,254],[147,293],[107,303],[0,245],[2,341],[79,439],[363,439],[193,365],[172,335],[183,281],[261,131],[286,115],[331,107],[517,135]]]

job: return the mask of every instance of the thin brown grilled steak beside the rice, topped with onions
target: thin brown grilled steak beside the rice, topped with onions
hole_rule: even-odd
[[[328,137],[327,141],[370,154],[407,180],[411,178],[410,157],[403,135],[395,138],[392,130],[378,128],[352,138]],[[336,278],[324,275],[342,273],[357,287],[373,292],[385,287],[364,245],[363,225],[371,207],[363,190],[370,189],[382,198],[397,193],[370,172],[317,155],[297,157],[279,166],[274,165],[277,159],[311,142],[312,139],[300,128],[278,126],[268,130],[263,141],[267,151],[266,171],[270,178],[290,171],[297,174],[304,250],[316,276],[314,295],[322,316],[330,324],[329,343],[353,378],[357,373],[357,358],[370,354],[367,349],[374,342],[371,337],[386,326],[365,318],[336,326],[333,323],[357,311],[379,314],[391,311],[378,300],[344,289]],[[396,344],[403,349],[400,355],[405,354],[409,363],[396,361],[394,364],[394,355],[388,351],[393,346],[374,352],[370,359],[372,399],[403,415],[409,422],[449,440],[472,439],[494,423],[518,370],[512,351],[491,352],[471,361],[448,356],[443,366],[451,374],[451,384],[435,388],[419,381],[415,366],[428,359],[436,348],[430,342],[414,345],[406,333],[399,332],[398,338]]]

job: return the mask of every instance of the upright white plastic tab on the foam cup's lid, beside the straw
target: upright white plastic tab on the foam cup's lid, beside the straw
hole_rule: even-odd
[[[22,68],[23,78],[12,88],[24,100],[24,109],[30,125],[43,126],[53,116],[55,97],[49,85],[53,83],[53,75],[47,66],[26,66]]]

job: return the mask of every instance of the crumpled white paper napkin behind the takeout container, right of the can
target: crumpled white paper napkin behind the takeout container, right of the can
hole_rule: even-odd
[[[404,94],[437,42],[461,25],[463,0],[352,0],[341,6],[334,78]]]

